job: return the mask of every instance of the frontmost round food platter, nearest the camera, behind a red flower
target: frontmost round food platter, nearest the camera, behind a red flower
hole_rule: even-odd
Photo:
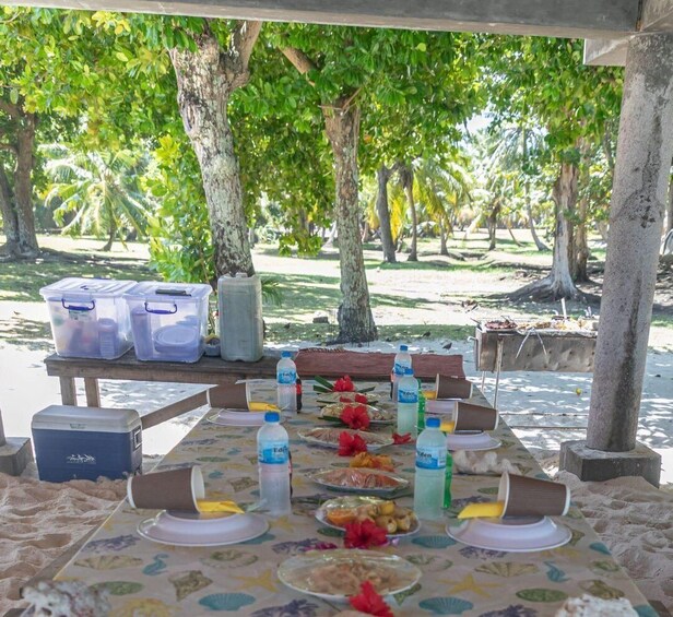
[[[413,588],[421,579],[421,570],[397,555],[345,548],[291,557],[278,574],[292,590],[335,602],[359,593],[364,581],[380,595],[390,595]]]

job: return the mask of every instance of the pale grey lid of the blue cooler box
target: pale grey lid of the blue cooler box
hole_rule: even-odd
[[[140,424],[140,416],[134,410],[49,405],[33,416],[31,428],[129,432]]]

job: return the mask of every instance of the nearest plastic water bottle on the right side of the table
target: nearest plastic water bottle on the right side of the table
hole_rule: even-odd
[[[439,430],[439,418],[427,418],[426,429],[416,440],[414,512],[420,519],[441,519],[444,507],[447,440]]]

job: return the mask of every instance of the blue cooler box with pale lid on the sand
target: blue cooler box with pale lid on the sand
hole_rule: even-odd
[[[39,479],[67,482],[140,472],[142,427],[133,410],[50,405],[31,424]]]

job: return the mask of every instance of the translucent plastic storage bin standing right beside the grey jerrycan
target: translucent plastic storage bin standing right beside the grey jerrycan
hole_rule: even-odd
[[[139,283],[123,295],[139,360],[196,363],[208,334],[211,286]]]

